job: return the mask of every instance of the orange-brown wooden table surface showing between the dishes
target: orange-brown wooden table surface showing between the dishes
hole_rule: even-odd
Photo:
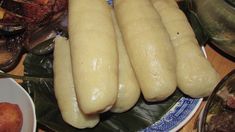
[[[209,61],[212,63],[216,71],[220,74],[221,78],[224,77],[227,73],[229,73],[231,70],[235,69],[235,62],[227,59],[223,55],[219,54],[214,48],[207,45],[206,46],[206,52],[208,55]],[[21,59],[20,63],[17,65],[15,69],[10,71],[11,74],[16,75],[23,75],[24,67],[23,67],[23,60],[25,55]],[[195,122],[197,121],[198,114],[200,113],[203,105],[205,102],[202,103],[200,106],[200,109],[197,111],[197,113],[194,115],[194,117],[180,130],[180,132],[192,132]]]

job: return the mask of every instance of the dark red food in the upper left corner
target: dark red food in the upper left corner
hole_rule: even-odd
[[[1,8],[5,10],[0,24],[17,23],[23,26],[36,26],[67,9],[67,0],[2,0]]]

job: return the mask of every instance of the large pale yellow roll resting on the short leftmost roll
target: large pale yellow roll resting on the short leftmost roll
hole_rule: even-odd
[[[77,98],[86,114],[102,113],[118,92],[118,54],[105,0],[69,0],[69,42]]]

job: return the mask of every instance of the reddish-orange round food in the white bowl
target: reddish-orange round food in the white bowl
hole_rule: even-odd
[[[0,131],[20,132],[23,124],[23,115],[17,104],[0,103]]]

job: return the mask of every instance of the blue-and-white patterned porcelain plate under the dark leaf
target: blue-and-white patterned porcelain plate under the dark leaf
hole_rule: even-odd
[[[107,0],[107,2],[110,5],[113,4],[113,0]],[[205,49],[203,47],[202,51],[206,56]],[[145,128],[142,132],[174,132],[179,130],[196,113],[202,100],[202,98],[192,99],[182,97],[163,117],[161,117],[159,121]]]

